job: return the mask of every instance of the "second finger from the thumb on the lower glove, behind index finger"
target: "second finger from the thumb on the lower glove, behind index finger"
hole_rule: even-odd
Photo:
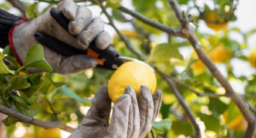
[[[134,89],[128,85],[125,88],[125,94],[131,97],[127,137],[137,138],[140,133],[140,113],[136,93]]]

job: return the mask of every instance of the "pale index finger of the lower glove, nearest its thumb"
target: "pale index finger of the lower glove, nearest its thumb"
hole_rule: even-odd
[[[127,137],[130,104],[131,97],[127,94],[121,95],[114,104],[111,124],[108,127],[110,137]]]

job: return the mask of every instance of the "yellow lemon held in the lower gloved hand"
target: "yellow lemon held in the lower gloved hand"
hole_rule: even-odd
[[[137,61],[125,62],[114,71],[108,82],[108,96],[111,101],[116,103],[128,85],[133,87],[137,97],[142,85],[147,86],[154,94],[157,79],[154,71],[148,65]]]

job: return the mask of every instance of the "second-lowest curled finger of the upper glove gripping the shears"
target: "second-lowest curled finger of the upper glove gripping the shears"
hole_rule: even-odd
[[[89,44],[104,29],[104,22],[100,18],[93,19],[92,23],[78,35],[78,44],[87,49]]]

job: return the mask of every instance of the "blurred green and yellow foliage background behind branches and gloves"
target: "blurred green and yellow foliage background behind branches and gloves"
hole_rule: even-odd
[[[126,0],[123,0],[126,1]],[[128,0],[127,0],[128,1]],[[59,1],[39,0],[20,1],[27,7],[26,16],[33,19]],[[93,6],[90,2],[76,1],[79,5]],[[147,55],[147,62],[154,64],[164,73],[175,77],[198,92],[213,94],[225,94],[225,89],[214,79],[205,65],[199,61],[192,46],[182,38],[172,37],[164,34],[158,29],[145,25],[131,16],[122,14],[117,8],[121,0],[104,1],[109,13],[119,25],[130,23],[133,29],[121,30],[129,38],[131,44],[139,52]],[[233,82],[234,89],[242,87],[238,94],[242,95],[245,101],[255,108],[256,98],[256,47],[248,47],[248,39],[255,32],[256,28],[248,32],[242,32],[239,28],[227,28],[228,24],[237,19],[235,16],[238,1],[236,0],[215,0],[201,4],[199,0],[178,1],[185,14],[193,17],[192,26],[195,28],[204,49],[210,58],[217,64],[222,73]],[[43,8],[40,4],[48,3]],[[200,3],[200,4],[199,4]],[[149,19],[160,22],[172,28],[180,28],[170,5],[166,0],[133,0],[133,8]],[[123,5],[125,6],[125,5]],[[1,8],[10,10],[13,6],[4,1]],[[245,9],[246,10],[246,9]],[[205,22],[208,28],[214,33],[202,33],[198,31],[201,26],[198,22]],[[249,22],[249,21],[248,21]],[[204,28],[201,28],[201,30]],[[237,34],[242,41],[231,37]],[[165,38],[164,43],[158,40]],[[113,45],[123,56],[139,58],[128,49],[118,35],[113,37]],[[248,52],[249,50],[249,52]],[[57,73],[28,73],[22,69],[17,71],[17,62],[11,56],[10,49],[4,49],[4,56],[1,59],[11,62],[6,70],[0,70],[1,104],[14,107],[19,112],[34,116],[44,121],[60,120],[64,124],[76,127],[80,124],[83,116],[90,107],[90,100],[100,86],[107,86],[108,79],[113,71],[101,69],[88,69],[81,73],[62,75]],[[251,74],[236,74],[234,70],[243,61],[251,65]],[[2,60],[1,60],[2,61]],[[237,63],[237,64],[236,64]],[[1,63],[3,67],[3,63]],[[14,70],[15,73],[13,74]],[[240,70],[243,72],[246,70]],[[14,79],[13,79],[14,78]],[[14,83],[19,84],[15,86]],[[20,83],[18,83],[20,82]],[[22,82],[22,83],[21,83]],[[243,115],[228,97],[211,98],[199,96],[184,85],[176,83],[187,104],[196,116],[196,121],[202,130],[203,137],[242,137],[247,126]],[[163,91],[163,104],[157,122],[147,137],[189,137],[193,134],[193,128],[183,112],[182,107],[176,100],[166,82],[157,76],[157,88]],[[13,89],[18,90],[13,91]],[[254,111],[255,112],[255,111]],[[4,118],[4,115],[2,115]],[[5,118],[2,125],[2,136],[7,137],[67,137],[68,133],[58,129],[44,130],[32,127],[28,124],[21,124],[14,118]]]

